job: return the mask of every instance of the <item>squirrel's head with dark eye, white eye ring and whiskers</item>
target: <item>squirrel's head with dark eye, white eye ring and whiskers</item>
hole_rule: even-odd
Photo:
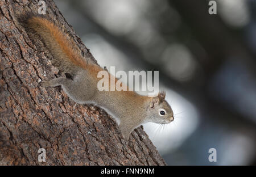
[[[158,96],[151,98],[150,108],[148,108],[148,118],[151,122],[168,124],[174,120],[174,112],[165,98],[166,92],[160,92]]]

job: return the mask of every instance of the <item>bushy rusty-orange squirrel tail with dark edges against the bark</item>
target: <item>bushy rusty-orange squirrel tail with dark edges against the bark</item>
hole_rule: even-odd
[[[86,69],[88,64],[75,42],[50,20],[39,15],[19,18],[20,24],[33,37],[39,37],[53,56],[53,65],[66,73],[73,73],[76,67]]]

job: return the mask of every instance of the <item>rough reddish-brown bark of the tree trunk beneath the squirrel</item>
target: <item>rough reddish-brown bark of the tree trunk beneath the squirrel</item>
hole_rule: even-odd
[[[47,15],[96,62],[55,3],[46,4]],[[25,10],[37,12],[38,1],[1,0],[0,6],[0,165],[166,165],[142,127],[126,144],[104,110],[76,104],[59,87],[41,87],[58,70],[16,20]],[[38,161],[41,147],[46,162]]]

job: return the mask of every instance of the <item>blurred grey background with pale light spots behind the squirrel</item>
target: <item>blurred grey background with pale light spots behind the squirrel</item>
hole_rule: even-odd
[[[55,0],[102,67],[159,71],[175,120],[144,130],[168,165],[256,165],[256,1],[216,2]]]

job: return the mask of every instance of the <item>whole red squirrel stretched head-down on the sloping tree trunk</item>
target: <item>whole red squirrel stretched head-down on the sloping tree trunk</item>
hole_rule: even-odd
[[[149,97],[139,95],[135,91],[99,91],[97,82],[101,78],[98,78],[97,74],[105,69],[96,64],[89,64],[63,29],[43,16],[30,15],[20,19],[27,33],[32,33],[32,36],[37,36],[43,41],[53,57],[53,66],[65,74],[72,75],[72,78],[58,77],[51,81],[42,81],[42,86],[61,86],[75,102],[94,104],[105,109],[117,121],[126,141],[129,140],[130,133],[143,123],[167,124],[174,120],[172,108],[165,100],[165,92]],[[114,79],[114,82],[117,82],[117,79]]]

